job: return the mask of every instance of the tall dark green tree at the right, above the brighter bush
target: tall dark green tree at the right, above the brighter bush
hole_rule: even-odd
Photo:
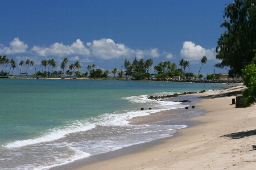
[[[216,59],[221,63],[217,67],[230,67],[230,73],[242,74],[242,69],[254,57],[256,45],[256,1],[235,0],[224,9],[224,22],[217,41]]]

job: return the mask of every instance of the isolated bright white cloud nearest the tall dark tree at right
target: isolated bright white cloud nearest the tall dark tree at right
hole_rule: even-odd
[[[183,42],[180,56],[188,61],[200,61],[203,56],[206,56],[207,59],[214,59],[216,53],[214,52],[214,49],[205,49],[191,41],[185,41]]]

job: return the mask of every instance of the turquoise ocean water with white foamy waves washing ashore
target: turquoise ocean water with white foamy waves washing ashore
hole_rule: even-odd
[[[196,116],[196,110],[172,112],[164,122],[130,124],[129,120],[181,111],[189,105],[148,100],[150,95],[221,89],[216,86],[228,84],[0,79],[0,169],[50,169],[172,137],[188,126],[180,120]]]

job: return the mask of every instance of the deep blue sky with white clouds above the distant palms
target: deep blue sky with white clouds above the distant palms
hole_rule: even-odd
[[[43,59],[54,58],[56,70],[67,57],[80,61],[82,73],[95,64],[102,70],[121,70],[123,61],[151,58],[153,65],[181,58],[197,74],[214,73],[214,49],[225,28],[228,0],[120,1],[3,1],[0,12],[0,55],[17,63],[30,59],[31,69],[42,70]],[[23,66],[23,69],[26,66]],[[154,72],[150,68],[150,72]],[[217,69],[216,73],[228,73]],[[19,66],[14,70],[19,74]]]

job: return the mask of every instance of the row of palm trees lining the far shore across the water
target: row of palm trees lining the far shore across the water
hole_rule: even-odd
[[[203,66],[204,63],[207,62],[207,57],[203,56],[201,58],[201,67]],[[2,70],[2,73],[3,73],[3,70],[6,71],[7,69],[7,65],[8,64],[11,64],[10,66],[10,71],[11,71],[11,68],[13,69],[14,71],[14,68],[16,68],[16,62],[15,60],[12,58],[11,60],[9,58],[7,58],[6,56],[0,56],[0,65],[1,65],[1,70]],[[34,62],[33,61],[30,61],[30,59],[27,59],[25,62],[24,61],[20,61],[19,62],[19,66],[20,66],[20,74],[22,75],[23,72],[22,72],[22,66],[23,65],[27,65],[27,72],[28,72],[28,66],[34,66]],[[81,64],[79,61],[76,61],[75,63],[71,63],[69,66],[68,66],[68,70],[67,71],[64,71],[65,68],[67,67],[67,64],[68,64],[68,58],[64,58],[63,59],[63,62],[61,62],[60,64],[60,68],[61,68],[61,71],[54,71],[54,75],[64,75],[64,74],[67,74],[67,75],[72,75],[73,73],[75,73],[76,75],[82,75],[82,73],[79,72],[79,69],[81,69]],[[121,76],[123,75],[123,73],[126,73],[126,75],[133,75],[133,73],[148,73],[149,71],[149,68],[150,66],[153,64],[153,61],[152,59],[147,59],[146,61],[144,61],[144,59],[140,59],[139,61],[137,60],[137,58],[135,57],[134,61],[133,62],[130,62],[128,61],[127,59],[125,59],[125,62],[124,62],[124,67],[126,69],[126,71],[123,71],[121,70],[121,72],[118,71],[117,68],[114,68],[111,73],[114,74],[114,77],[115,77],[115,74],[120,74]],[[53,75],[53,69],[56,68],[56,62],[55,62],[55,59],[44,59],[41,61],[41,64],[40,64],[42,67],[42,73],[43,73],[43,70],[46,71],[46,67],[48,66],[48,70],[46,73],[49,73],[49,67],[52,67],[51,69],[51,74]],[[189,62],[184,60],[184,59],[181,59],[180,62],[179,62],[179,65],[181,66],[181,70],[189,67]],[[4,69],[5,67],[5,69]],[[96,67],[95,64],[93,65],[88,65],[86,67],[86,69],[88,69],[88,72],[86,71],[86,73],[84,73],[83,75],[87,76],[89,75],[90,76],[90,71],[92,71],[92,67],[93,67],[93,70],[94,68]],[[200,71],[201,71],[201,67],[200,67],[200,70],[199,70],[199,74],[200,74]],[[168,72],[168,71],[175,71],[177,69],[177,66],[175,63],[171,63],[170,61],[164,61],[164,62],[159,62],[157,66],[154,66],[154,70],[157,71],[158,73],[163,73],[164,72]],[[76,71],[75,71],[76,70]],[[10,73],[9,71],[9,73]],[[36,72],[36,70],[35,70]],[[40,73],[40,72],[39,72]],[[27,73],[26,73],[27,74]],[[106,70],[106,74],[110,75],[110,71],[109,70]]]

